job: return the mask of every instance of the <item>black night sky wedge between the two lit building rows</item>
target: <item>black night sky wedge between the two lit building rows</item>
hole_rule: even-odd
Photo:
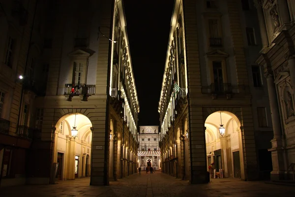
[[[123,2],[140,104],[139,126],[159,125],[158,102],[174,0]]]

